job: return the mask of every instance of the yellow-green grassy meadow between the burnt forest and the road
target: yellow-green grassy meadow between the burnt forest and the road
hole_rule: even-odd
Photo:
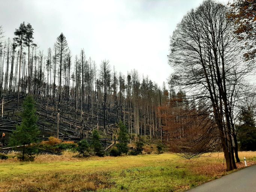
[[[239,155],[247,158],[247,165],[256,163],[256,152]],[[193,160],[172,153],[74,158],[65,151],[39,155],[34,162],[20,162],[14,153],[8,156],[0,160],[0,192],[172,192],[226,174],[222,153]],[[243,161],[237,165],[244,167]]]

